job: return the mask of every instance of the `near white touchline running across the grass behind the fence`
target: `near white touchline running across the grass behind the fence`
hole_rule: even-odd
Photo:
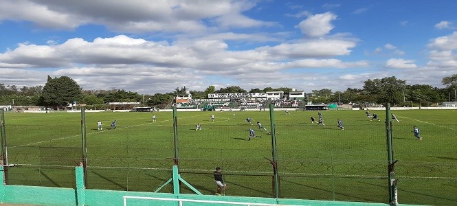
[[[67,166],[67,165],[34,165],[34,164],[16,164],[18,166],[33,166],[33,167],[51,167],[51,168],[74,168],[74,166]],[[128,167],[108,167],[108,166],[87,166],[87,168],[95,168],[95,169],[123,169],[123,170],[172,170],[170,168],[128,168]],[[181,169],[181,172],[208,172],[208,174],[212,174],[213,170],[190,170],[190,169]],[[236,172],[244,174],[263,174],[273,175],[272,172],[251,172],[251,171],[228,171],[226,172]],[[360,175],[360,174],[324,174],[324,173],[299,173],[299,172],[281,172],[282,175],[302,175],[302,176],[338,176],[338,177],[350,177],[350,178],[388,178],[387,175]],[[398,176],[399,178],[405,179],[453,179],[457,180],[455,176]]]

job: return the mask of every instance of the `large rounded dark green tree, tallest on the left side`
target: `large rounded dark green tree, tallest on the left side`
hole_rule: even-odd
[[[41,97],[46,106],[67,106],[70,102],[81,98],[81,87],[67,76],[51,78],[47,76],[47,82],[43,87]]]

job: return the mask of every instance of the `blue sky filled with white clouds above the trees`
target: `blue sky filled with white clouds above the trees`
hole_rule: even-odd
[[[362,89],[457,74],[454,0],[2,0],[0,83],[84,90]]]

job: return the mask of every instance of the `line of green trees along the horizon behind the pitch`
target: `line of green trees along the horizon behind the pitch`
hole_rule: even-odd
[[[331,89],[312,90],[306,98],[311,102],[348,104],[390,102],[396,106],[410,106],[412,103],[430,106],[440,102],[453,102],[456,99],[457,74],[443,78],[444,88],[432,87],[427,84],[406,84],[395,76],[375,78],[364,81],[362,89],[347,88],[345,91],[331,91]],[[186,87],[177,87],[168,93],[155,93],[154,95],[139,94],[125,91],[124,89],[108,90],[83,90],[76,81],[67,77],[52,78],[47,76],[44,86],[17,87],[0,83],[0,104],[20,106],[47,106],[57,108],[71,103],[87,104],[88,107],[102,108],[107,102],[143,102],[147,106],[165,106],[172,102],[179,93],[186,93]],[[216,90],[209,86],[205,91],[189,91],[194,99],[208,98],[209,93],[261,93],[267,91],[292,91],[288,87],[264,89],[250,89],[246,91],[238,86],[230,86]]]

